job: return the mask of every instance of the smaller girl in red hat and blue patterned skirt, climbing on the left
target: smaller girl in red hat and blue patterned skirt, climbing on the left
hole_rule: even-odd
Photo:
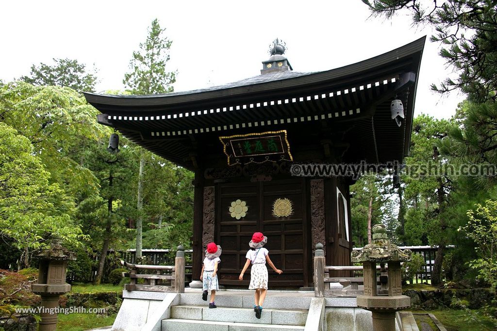
[[[216,297],[216,290],[219,290],[219,282],[217,277],[217,265],[221,262],[221,246],[216,243],[207,244],[205,250],[205,259],[202,262],[202,271],[200,272],[200,280],[203,283],[202,300],[207,301],[207,294],[211,291],[211,300],[209,301],[209,308],[217,308],[214,303]]]

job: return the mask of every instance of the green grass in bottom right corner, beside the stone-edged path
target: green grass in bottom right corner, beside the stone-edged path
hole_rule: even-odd
[[[479,310],[464,310],[446,309],[432,311],[413,311],[413,313],[433,314],[443,324],[447,331],[492,331],[495,327],[491,322],[486,320]],[[416,320],[417,321],[417,320]],[[421,330],[418,324],[419,330]]]

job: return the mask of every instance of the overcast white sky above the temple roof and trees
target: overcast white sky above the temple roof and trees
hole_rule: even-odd
[[[175,91],[255,76],[272,40],[286,42],[296,71],[345,66],[432,33],[411,26],[407,13],[394,20],[369,18],[361,0],[287,1],[5,1],[0,11],[0,79],[29,73],[52,58],[77,59],[98,68],[97,91],[122,89],[132,52],[154,18],[173,41],[170,70]],[[464,95],[430,91],[448,74],[439,45],[426,42],[415,115],[449,118]]]

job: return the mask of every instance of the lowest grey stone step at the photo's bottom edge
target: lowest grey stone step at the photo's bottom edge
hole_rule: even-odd
[[[213,322],[167,319],[162,321],[162,331],[260,331],[260,330],[285,330],[301,331],[303,326],[236,323],[236,322]]]

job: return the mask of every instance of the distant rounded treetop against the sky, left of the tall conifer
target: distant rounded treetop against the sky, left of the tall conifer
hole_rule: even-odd
[[[20,79],[32,85],[62,86],[79,92],[94,92],[97,82],[94,69],[87,72],[86,66],[77,60],[53,60],[53,66],[44,63],[31,66],[30,76],[22,76]]]

